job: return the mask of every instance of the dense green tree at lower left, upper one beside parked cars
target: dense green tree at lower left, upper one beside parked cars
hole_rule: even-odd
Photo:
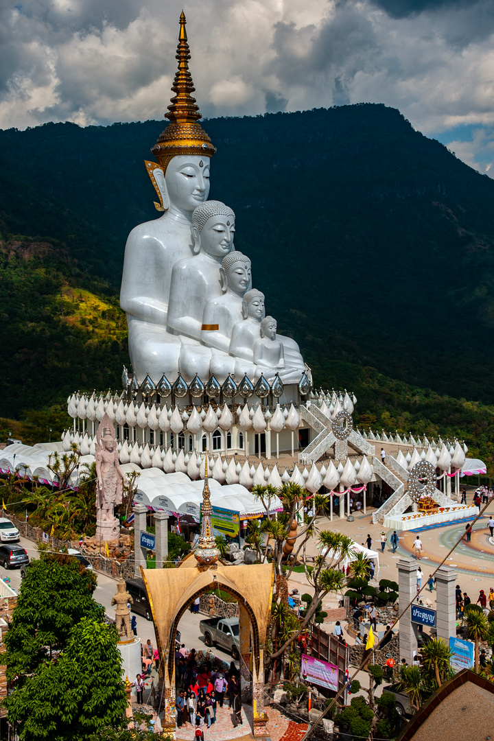
[[[83,617],[103,618],[93,600],[96,576],[63,554],[33,560],[21,585],[12,625],[5,637],[7,678],[22,678],[62,651]]]

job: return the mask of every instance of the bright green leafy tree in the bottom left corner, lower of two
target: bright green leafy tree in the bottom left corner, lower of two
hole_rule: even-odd
[[[83,617],[56,660],[43,662],[5,701],[21,741],[89,740],[127,706],[114,625]]]

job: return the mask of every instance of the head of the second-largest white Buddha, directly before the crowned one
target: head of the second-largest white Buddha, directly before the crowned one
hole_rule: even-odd
[[[193,251],[221,260],[233,247],[235,213],[221,201],[206,201],[192,215]]]

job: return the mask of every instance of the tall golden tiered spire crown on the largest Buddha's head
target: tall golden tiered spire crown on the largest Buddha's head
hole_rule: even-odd
[[[184,154],[212,157],[216,152],[210,137],[197,123],[202,116],[196,99],[190,95],[196,88],[189,72],[190,51],[185,30],[186,22],[182,10],[176,53],[178,70],[172,86],[176,94],[170,101],[168,113],[164,114],[170,123],[161,132],[158,142],[151,150],[164,173],[173,157]]]

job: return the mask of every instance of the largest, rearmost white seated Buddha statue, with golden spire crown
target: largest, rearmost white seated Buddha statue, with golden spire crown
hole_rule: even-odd
[[[167,330],[170,281],[176,262],[193,255],[192,214],[209,195],[210,157],[216,151],[197,123],[201,113],[190,94],[185,22],[182,13],[176,95],[165,114],[170,124],[153,147],[158,163],[146,162],[160,200],[156,208],[164,214],[133,229],[125,247],[120,305],[127,313],[130,362],[139,382],[147,373],[155,382],[163,373],[170,381],[178,375],[181,342]]]

